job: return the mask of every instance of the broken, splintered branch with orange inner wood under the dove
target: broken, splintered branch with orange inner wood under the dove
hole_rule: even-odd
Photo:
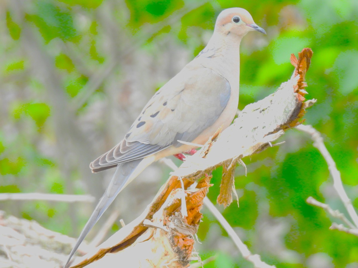
[[[229,205],[236,163],[272,146],[286,129],[300,124],[305,109],[315,102],[303,102],[304,79],[311,56],[309,48],[303,49],[298,59],[292,55],[295,71],[289,81],[282,83],[275,93],[247,105],[214,142],[214,138],[210,139],[196,154],[186,158],[137,219],[73,267],[88,264],[100,267],[108,262],[120,263],[122,267],[187,267],[195,253],[194,235],[202,217],[200,209],[211,186],[208,174],[223,165],[218,203]],[[178,178],[182,179],[184,189]],[[188,189],[198,179],[197,186]],[[183,190],[188,212],[184,218],[181,212]]]

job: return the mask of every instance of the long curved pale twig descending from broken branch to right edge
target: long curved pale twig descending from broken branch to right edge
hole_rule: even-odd
[[[348,195],[343,188],[343,183],[340,177],[340,173],[337,169],[337,166],[332,156],[329,154],[327,148],[325,147],[323,143],[323,138],[321,137],[320,133],[316,129],[314,129],[311,125],[298,125],[296,126],[296,128],[311,135],[311,138],[314,141],[313,146],[320,151],[323,158],[326,160],[328,164],[329,173],[333,178],[334,189],[337,191],[340,199],[342,200],[345,208],[347,209],[348,214],[355,225],[355,229],[358,228],[357,212],[355,211],[351,200],[348,198]]]

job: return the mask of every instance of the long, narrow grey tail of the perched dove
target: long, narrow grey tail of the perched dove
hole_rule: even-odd
[[[106,209],[110,206],[116,196],[151,163],[153,163],[153,159],[144,158],[118,164],[116,172],[113,175],[112,180],[106,189],[106,192],[98,202],[95,211],[93,211],[91,217],[79,235],[76,245],[69,254],[68,260],[64,266],[65,268],[68,267],[69,261],[71,260],[79,245],[82,243],[83,239],[100,219]]]

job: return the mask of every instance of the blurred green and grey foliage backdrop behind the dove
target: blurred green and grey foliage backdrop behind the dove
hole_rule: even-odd
[[[318,101],[305,124],[322,133],[358,208],[356,0],[0,1],[0,193],[100,198],[114,170],[91,174],[89,163],[122,139],[155,90],[204,48],[219,12],[235,6],[267,32],[242,41],[239,108],[273,93],[292,74],[290,54],[311,48],[307,98]],[[240,207],[219,209],[269,264],[358,267],[357,237],[329,230],[338,220],[305,203],[313,196],[346,213],[326,162],[307,134],[289,130],[283,140],[243,159],[247,177],[239,167],[235,179]],[[125,223],[135,219],[169,172],[151,165],[87,240],[113,210]],[[214,203],[221,172],[214,171],[208,194]],[[7,200],[0,209],[77,238],[95,204]],[[252,267],[203,212],[196,249],[202,259],[214,256],[204,267]]]

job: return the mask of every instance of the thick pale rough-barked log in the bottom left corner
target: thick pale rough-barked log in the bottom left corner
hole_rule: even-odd
[[[76,240],[0,210],[0,264],[5,267],[61,267]],[[90,250],[86,242],[79,247],[81,254]]]

